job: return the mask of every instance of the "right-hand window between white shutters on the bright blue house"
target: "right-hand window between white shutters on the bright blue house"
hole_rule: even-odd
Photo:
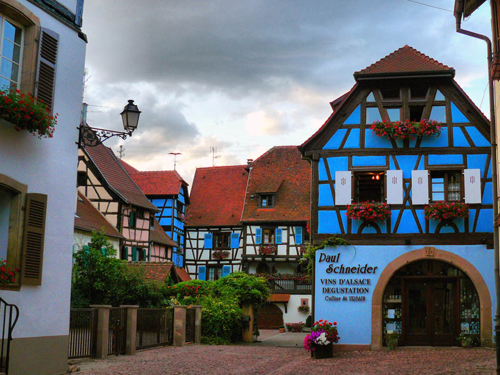
[[[460,170],[430,172],[430,200],[460,201],[462,193]]]

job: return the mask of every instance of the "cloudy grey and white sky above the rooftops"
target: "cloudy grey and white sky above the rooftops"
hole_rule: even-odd
[[[123,159],[140,170],[245,163],[300,144],[352,73],[408,44],[456,70],[484,113],[486,47],[456,33],[453,0],[86,0],[84,101],[90,126],[119,129],[127,99],[142,111]],[[462,27],[490,35],[489,1]],[[485,94],[484,94],[485,93]],[[483,97],[483,95],[485,95]],[[482,102],[482,104],[481,104]]]

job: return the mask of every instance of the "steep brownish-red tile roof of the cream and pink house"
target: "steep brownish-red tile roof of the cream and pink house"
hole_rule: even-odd
[[[97,166],[109,186],[123,200],[136,206],[154,210],[155,212],[158,211],[158,208],[147,200],[142,191],[140,191],[109,147],[98,144],[94,147],[85,147],[83,151]]]

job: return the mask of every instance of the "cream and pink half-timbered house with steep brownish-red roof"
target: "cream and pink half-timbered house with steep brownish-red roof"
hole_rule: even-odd
[[[149,258],[150,228],[157,208],[103,144],[80,149],[78,191],[103,214],[124,239],[118,256],[125,260]]]

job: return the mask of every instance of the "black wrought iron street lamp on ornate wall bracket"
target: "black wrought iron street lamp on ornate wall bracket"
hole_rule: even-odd
[[[78,127],[78,147],[93,147],[115,135],[119,136],[121,139],[126,139],[126,137],[132,135],[132,132],[136,129],[137,123],[139,122],[139,114],[139,108],[137,108],[137,105],[130,99],[120,113],[121,120],[123,121],[123,129],[125,131],[90,127],[85,123],[86,120],[83,119]],[[86,116],[84,115],[83,117],[85,118]]]

